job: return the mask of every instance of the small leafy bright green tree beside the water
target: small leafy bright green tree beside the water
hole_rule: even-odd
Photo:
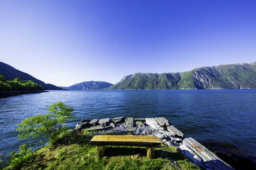
[[[67,128],[65,125],[68,119],[75,118],[72,114],[73,108],[61,101],[49,106],[50,113],[25,118],[16,129],[20,132],[18,139],[49,138],[51,142]]]

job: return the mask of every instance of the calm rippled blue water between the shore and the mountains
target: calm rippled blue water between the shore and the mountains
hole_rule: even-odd
[[[165,117],[186,137],[215,140],[256,153],[256,90],[58,90],[0,99],[0,152],[4,158],[25,141],[17,140],[21,120],[45,113],[63,101],[81,118]]]

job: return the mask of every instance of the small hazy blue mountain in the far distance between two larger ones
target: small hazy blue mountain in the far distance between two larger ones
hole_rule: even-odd
[[[104,81],[84,81],[68,87],[68,90],[97,90],[110,87],[111,83]]]

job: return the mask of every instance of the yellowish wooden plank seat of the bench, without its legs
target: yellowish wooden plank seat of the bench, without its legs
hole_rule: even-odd
[[[159,147],[161,141],[156,136],[121,136],[121,135],[96,135],[90,143],[92,145],[120,145],[120,146],[148,146]]]

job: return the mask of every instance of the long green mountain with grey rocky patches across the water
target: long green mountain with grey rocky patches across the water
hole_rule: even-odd
[[[256,62],[200,67],[182,73],[134,73],[109,89],[256,89]]]

